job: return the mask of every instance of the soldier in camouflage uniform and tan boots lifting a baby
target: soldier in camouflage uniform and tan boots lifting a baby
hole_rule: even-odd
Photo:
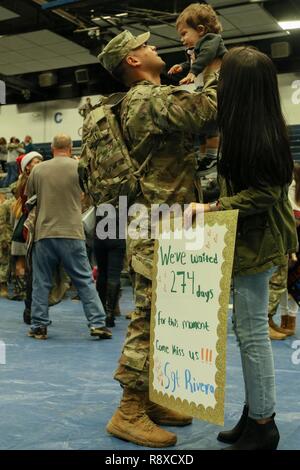
[[[150,33],[134,37],[123,31],[99,55],[104,68],[130,87],[121,104],[120,122],[129,152],[141,165],[151,156],[135,202],[189,203],[195,197],[195,154],[192,133],[216,113],[217,63],[204,75],[200,93],[161,86],[165,65]],[[149,328],[154,241],[128,239],[129,266],[134,275],[135,311],[115,373],[123,387],[119,408],[107,430],[114,436],[148,447],[167,447],[176,435],[158,425],[185,426],[192,418],[149,401]]]

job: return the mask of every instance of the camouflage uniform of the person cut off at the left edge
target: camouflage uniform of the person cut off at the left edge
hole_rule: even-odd
[[[10,246],[12,226],[10,223],[10,208],[13,199],[0,202],[0,284],[7,284],[9,277]]]

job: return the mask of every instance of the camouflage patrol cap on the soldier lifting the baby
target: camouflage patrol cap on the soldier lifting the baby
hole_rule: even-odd
[[[150,33],[133,36],[130,31],[122,31],[106,44],[98,59],[103,67],[112,73],[130,51],[137,49],[148,41]]]

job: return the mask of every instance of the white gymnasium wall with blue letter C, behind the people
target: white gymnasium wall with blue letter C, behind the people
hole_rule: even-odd
[[[281,103],[288,124],[300,124],[300,73],[278,76]],[[98,96],[92,96],[95,104]],[[82,117],[78,107],[85,97],[71,100],[46,101],[22,105],[0,106],[0,137],[7,140],[15,135],[20,140],[26,134],[33,142],[51,142],[59,132],[69,134],[73,140],[80,140]],[[60,113],[60,114],[59,114]]]

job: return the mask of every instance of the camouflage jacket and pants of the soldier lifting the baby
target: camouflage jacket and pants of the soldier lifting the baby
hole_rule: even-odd
[[[135,200],[181,205],[197,200],[193,134],[215,117],[215,73],[204,77],[200,93],[147,81],[135,84],[121,105],[121,126],[128,149],[141,165],[151,155],[141,176],[141,194]],[[198,192],[199,194],[199,192]],[[149,330],[154,240],[127,240],[128,263],[133,271],[135,312],[115,373],[127,388],[149,387]]]

